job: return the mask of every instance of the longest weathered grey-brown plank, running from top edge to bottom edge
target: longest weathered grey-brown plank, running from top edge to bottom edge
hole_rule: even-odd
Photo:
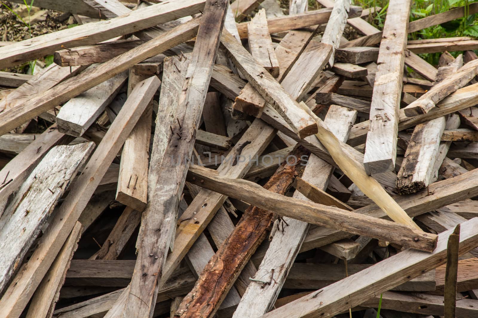
[[[159,288],[158,279],[161,277],[158,273],[162,273],[166,263],[188,159],[193,152],[196,127],[199,127],[227,8],[225,0],[208,1],[195,49],[189,57],[179,56],[169,60],[169,67],[173,69],[174,63],[181,62],[182,59],[187,65],[187,71],[181,74],[184,83],[173,84],[180,87],[179,103],[169,105],[170,110],[164,112],[169,115],[164,119],[165,126],[168,126],[167,134],[156,134],[163,132],[163,129],[155,131],[153,152],[156,158],[152,159],[152,168],[148,174],[151,180],[151,185],[148,185],[151,200],[141,219],[138,257],[131,284],[106,317],[152,317]],[[162,91],[163,89],[164,87]],[[162,126],[160,123],[157,122],[156,127]]]

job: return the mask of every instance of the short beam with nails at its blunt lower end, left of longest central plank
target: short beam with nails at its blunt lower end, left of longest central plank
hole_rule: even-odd
[[[136,75],[130,70],[128,94],[148,75]],[[148,164],[151,138],[152,104],[146,108],[123,145],[116,201],[143,211],[148,195]]]

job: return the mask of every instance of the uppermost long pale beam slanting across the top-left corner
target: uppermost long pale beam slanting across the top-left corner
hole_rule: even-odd
[[[11,67],[52,54],[61,49],[62,45],[71,48],[96,44],[118,35],[133,33],[139,29],[196,14],[204,10],[204,3],[204,0],[158,3],[109,21],[87,23],[77,26],[76,29],[56,31],[0,47],[0,68]]]

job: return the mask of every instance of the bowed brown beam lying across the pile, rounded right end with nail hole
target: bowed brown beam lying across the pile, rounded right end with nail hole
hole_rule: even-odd
[[[236,198],[240,197],[252,205],[272,210],[278,215],[331,228],[337,228],[338,224],[340,224],[341,228],[348,227],[348,230],[353,231],[355,234],[371,237],[380,236],[380,238],[387,239],[388,241],[400,242],[399,244],[403,244],[403,246],[413,246],[417,249],[431,251],[435,248],[436,242],[433,235],[426,234],[411,226],[377,221],[367,216],[361,218],[355,213],[346,213],[337,207],[327,207],[326,205],[304,202],[295,198],[286,198],[283,195],[277,195],[264,190],[261,186],[250,181],[225,178],[211,172],[207,168],[199,166],[190,167],[187,179],[191,183],[201,185],[213,191]],[[252,193],[254,195],[251,195]],[[399,232],[400,237],[397,237],[397,233],[392,233],[391,231]],[[418,241],[414,240],[416,237],[419,237]]]

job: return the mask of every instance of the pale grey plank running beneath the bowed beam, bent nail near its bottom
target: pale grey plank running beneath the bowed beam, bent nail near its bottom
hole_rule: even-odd
[[[332,106],[325,121],[330,124],[332,131],[337,134],[337,138],[345,141],[350,124],[355,122],[355,118],[356,112]],[[317,187],[325,189],[333,170],[332,165],[327,164],[315,154],[311,154],[302,177]],[[293,197],[307,200],[297,191]],[[284,217],[284,219],[289,226],[284,228],[284,232],[277,231],[275,233],[255,276],[256,279],[267,277],[271,269],[274,268],[275,281],[264,288],[261,288],[260,284],[250,284],[234,313],[234,318],[259,317],[270,310],[277,299],[309,228],[306,222],[289,217]]]

